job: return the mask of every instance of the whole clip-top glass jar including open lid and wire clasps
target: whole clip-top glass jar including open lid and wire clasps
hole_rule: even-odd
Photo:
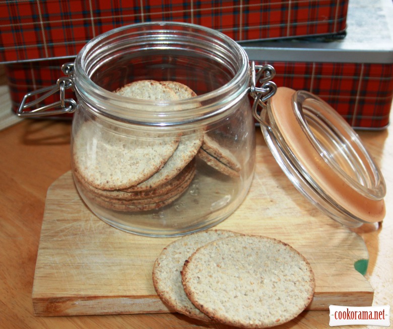
[[[18,115],[74,112],[75,185],[109,225],[159,237],[223,221],[251,184],[254,118],[283,172],[322,212],[352,227],[383,220],[385,183],[353,129],[319,97],[277,89],[271,66],[249,63],[218,31],[168,22],[120,27],[88,42],[63,72],[55,86],[26,94]],[[154,86],[174,94],[173,82],[192,97],[159,100]],[[156,90],[155,100],[122,95],[130,83],[150,96]],[[71,87],[77,102],[65,97]],[[58,90],[58,102],[24,111]]]

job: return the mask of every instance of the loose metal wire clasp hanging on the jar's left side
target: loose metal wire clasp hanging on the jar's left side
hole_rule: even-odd
[[[23,97],[17,111],[19,117],[40,117],[40,116],[58,115],[58,114],[75,112],[75,109],[77,107],[77,102],[72,98],[65,98],[65,90],[72,88],[73,86],[72,75],[74,71],[74,63],[64,64],[61,67],[61,71],[64,74],[68,75],[68,77],[61,77],[57,80],[57,83],[55,85],[28,92]],[[25,109],[39,104],[45,98],[49,97],[50,95],[53,95],[57,91],[60,91],[59,101],[41,106],[39,108],[32,109],[31,111],[25,111]],[[37,98],[30,102],[27,102],[28,98],[33,96],[37,96]]]

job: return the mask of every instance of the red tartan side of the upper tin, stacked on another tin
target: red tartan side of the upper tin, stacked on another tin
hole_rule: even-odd
[[[97,35],[149,21],[203,25],[235,41],[336,34],[345,31],[348,1],[2,1],[0,62],[76,56]]]

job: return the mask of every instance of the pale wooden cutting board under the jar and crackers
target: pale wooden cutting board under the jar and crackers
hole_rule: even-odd
[[[261,135],[251,189],[215,228],[289,243],[310,262],[311,310],[370,306],[373,290],[354,268],[368,259],[361,237],[323,215],[289,182]],[[79,198],[71,172],[48,189],[33,285],[39,316],[170,312],[156,295],[153,263],[175,238],[148,238],[105,224]]]

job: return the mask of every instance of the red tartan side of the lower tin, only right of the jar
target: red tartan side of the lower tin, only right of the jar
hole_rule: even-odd
[[[265,63],[259,63],[265,64]],[[389,124],[393,64],[269,62],[274,82],[318,95],[355,128]]]

